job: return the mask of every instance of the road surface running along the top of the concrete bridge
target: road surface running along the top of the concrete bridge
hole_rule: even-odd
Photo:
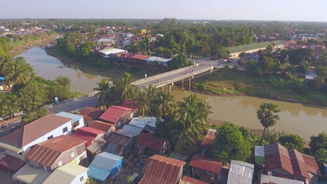
[[[197,66],[197,67],[190,66],[188,70],[181,70],[181,71],[178,71],[178,72],[174,72],[172,74],[167,74],[167,75],[164,75],[164,76],[155,77],[153,79],[147,79],[145,81],[137,82],[135,85],[137,85],[141,89],[146,88],[146,85],[157,84],[158,80],[159,80],[159,83],[165,82],[165,81],[168,81],[168,80],[175,79],[177,77],[181,77],[183,75],[186,75],[186,73],[191,74],[192,72],[197,72],[197,71],[200,71],[200,70],[202,70],[204,68],[211,67],[211,66],[213,66],[213,64],[217,64],[217,63],[211,63],[210,65],[209,64],[203,64],[203,65],[199,64],[199,66]]]

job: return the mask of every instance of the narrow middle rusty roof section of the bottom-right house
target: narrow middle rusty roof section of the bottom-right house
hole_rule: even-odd
[[[307,179],[311,179],[302,153],[295,149],[289,149],[288,153],[290,155],[294,176],[302,176]]]

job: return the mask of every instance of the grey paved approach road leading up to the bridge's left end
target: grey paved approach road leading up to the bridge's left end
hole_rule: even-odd
[[[78,100],[70,101],[67,103],[62,103],[59,105],[54,105],[48,107],[52,112],[58,113],[61,111],[70,112],[77,109],[82,109],[84,107],[98,107],[100,104],[98,103],[98,98],[96,97],[84,97]]]

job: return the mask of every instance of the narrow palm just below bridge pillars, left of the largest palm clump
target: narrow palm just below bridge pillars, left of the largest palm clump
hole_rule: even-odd
[[[174,97],[168,93],[168,91],[160,91],[157,95],[158,111],[160,113],[159,118],[165,116],[170,112],[171,104],[174,102]]]

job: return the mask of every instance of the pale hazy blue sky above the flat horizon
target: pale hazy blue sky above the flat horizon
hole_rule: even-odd
[[[0,0],[0,18],[327,21],[327,0]]]

